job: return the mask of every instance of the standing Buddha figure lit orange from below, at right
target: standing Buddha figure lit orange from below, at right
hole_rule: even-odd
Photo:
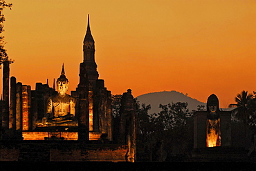
[[[215,94],[207,100],[206,147],[221,145],[221,128],[219,118],[219,99]]]

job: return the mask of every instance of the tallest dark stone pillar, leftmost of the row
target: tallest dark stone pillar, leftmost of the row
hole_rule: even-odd
[[[3,62],[3,117],[2,128],[3,131],[9,128],[9,78],[10,78],[10,63]]]

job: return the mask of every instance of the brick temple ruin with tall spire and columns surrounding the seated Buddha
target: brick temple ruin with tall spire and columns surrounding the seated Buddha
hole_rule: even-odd
[[[63,161],[64,158],[60,157],[59,153],[64,150],[62,148],[64,142],[73,155],[73,161],[135,161],[136,103],[131,90],[127,90],[122,96],[120,123],[113,125],[111,92],[104,87],[104,80],[98,79],[95,45],[89,26],[89,16],[83,51],[84,59],[80,63],[80,80],[76,90],[71,91],[71,96],[77,101],[75,103],[77,127],[39,128],[37,123],[42,121],[46,114],[47,99],[57,94],[55,84],[51,88],[48,81],[46,84],[36,83],[35,90],[31,90],[30,86],[17,83],[15,77],[9,79],[10,64],[3,63],[0,151],[1,154],[14,154],[14,156],[7,155],[9,157],[7,159],[1,155],[0,161],[24,160],[22,149],[24,146],[26,149],[33,148],[35,143],[40,148],[46,149],[46,156],[51,154],[51,157],[55,157],[54,161],[58,161],[59,158],[61,158],[59,161]],[[119,130],[116,135],[113,134],[113,129]],[[113,141],[114,136],[117,137],[116,141]],[[8,145],[7,147],[6,141],[11,142],[14,148]],[[84,151],[86,151],[87,158],[82,157]]]

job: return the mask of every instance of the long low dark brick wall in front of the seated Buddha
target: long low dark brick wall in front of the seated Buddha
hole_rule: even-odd
[[[125,161],[127,145],[75,143],[1,143],[0,161]]]

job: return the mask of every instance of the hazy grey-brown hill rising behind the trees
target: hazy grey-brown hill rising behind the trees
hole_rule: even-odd
[[[203,103],[201,101],[198,101],[196,99],[193,99],[191,97],[188,97],[187,95],[176,92],[176,91],[164,91],[164,92],[151,92],[147,94],[140,95],[136,97],[140,103],[145,103],[146,105],[151,105],[151,110],[149,110],[149,114],[152,113],[158,113],[161,111],[159,108],[159,104],[167,105],[168,103],[176,103],[176,102],[187,102],[188,103],[188,109],[190,112],[192,110],[197,109],[197,105],[205,105],[206,109],[206,103]]]

